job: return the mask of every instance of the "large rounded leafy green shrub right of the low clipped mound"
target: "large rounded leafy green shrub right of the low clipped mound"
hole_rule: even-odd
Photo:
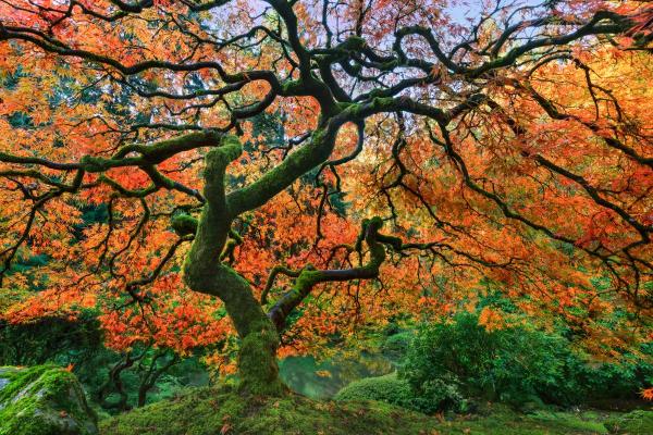
[[[551,388],[571,394],[562,339],[525,328],[488,332],[475,314],[422,328],[402,369],[417,397],[430,385],[455,382],[472,397],[507,402],[532,401]]]

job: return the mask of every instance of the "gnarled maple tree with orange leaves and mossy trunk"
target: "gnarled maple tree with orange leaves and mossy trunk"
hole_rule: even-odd
[[[223,307],[255,394],[284,391],[288,326],[458,310],[481,277],[597,353],[643,339],[641,2],[447,3],[0,2],[2,285],[49,260],[13,315],[99,303],[156,335],[167,300]]]

